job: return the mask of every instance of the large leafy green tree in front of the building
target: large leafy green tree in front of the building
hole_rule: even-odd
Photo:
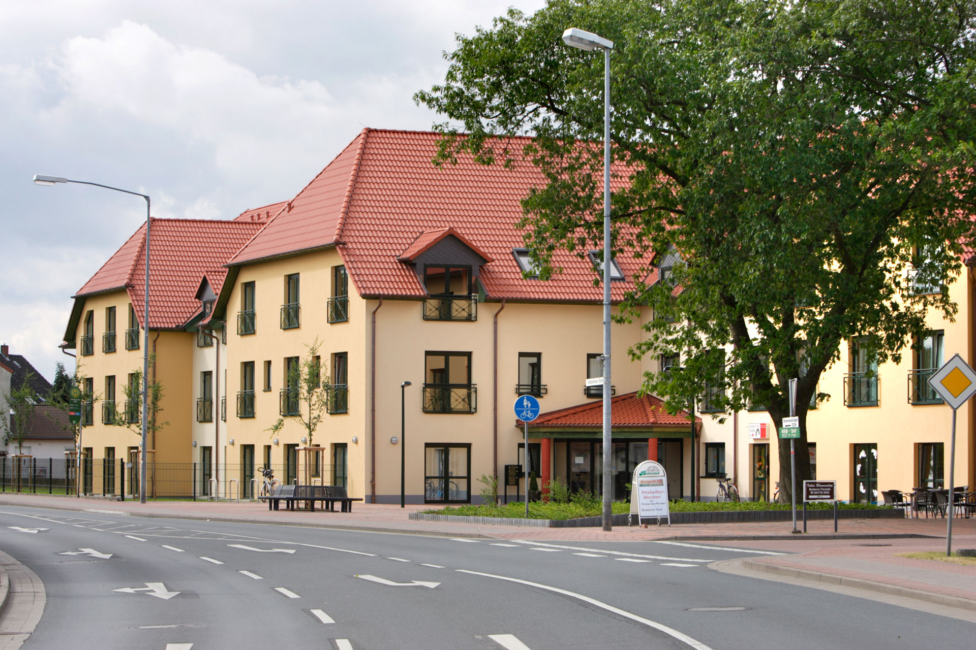
[[[656,317],[631,353],[681,355],[645,388],[671,409],[703,390],[726,413],[763,404],[779,426],[798,377],[808,478],[807,409],[830,397],[818,380],[841,343],[898,361],[929,310],[956,314],[976,200],[974,4],[550,0],[458,36],[444,83],[416,99],[451,120],[438,164],[527,157],[547,174],[521,224],[545,277],[553,250],[601,248],[603,57],[560,35],[615,41],[614,249],[646,260],[629,304]],[[681,263],[660,282],[665,257]]]

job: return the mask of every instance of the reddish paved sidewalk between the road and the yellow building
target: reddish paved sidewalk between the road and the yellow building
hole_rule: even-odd
[[[284,524],[345,530],[396,532],[447,537],[608,543],[684,541],[708,546],[741,546],[779,555],[741,560],[752,572],[802,578],[872,592],[889,593],[976,612],[976,566],[897,557],[899,553],[946,549],[946,520],[842,519],[810,521],[806,535],[791,534],[784,522],[697,523],[672,526],[529,528],[491,524],[412,521],[407,514],[425,506],[356,503],[352,513],[268,511],[260,502],[102,501],[34,494],[0,493],[0,507],[57,508],[97,515],[174,517],[208,521]],[[976,519],[956,519],[953,548],[976,548]]]

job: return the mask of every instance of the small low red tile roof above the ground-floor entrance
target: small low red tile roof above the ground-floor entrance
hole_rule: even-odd
[[[688,411],[679,410],[671,415],[664,408],[664,401],[653,395],[639,396],[636,392],[618,395],[611,399],[611,425],[614,429],[687,427]],[[521,422],[516,420],[516,425]],[[695,423],[701,427],[702,418],[695,416]],[[542,413],[529,423],[532,427],[592,428],[603,425],[603,401],[593,400]]]

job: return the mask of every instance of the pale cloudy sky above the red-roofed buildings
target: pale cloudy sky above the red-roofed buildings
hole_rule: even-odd
[[[49,379],[70,296],[145,219],[294,196],[364,126],[441,121],[413,94],[454,34],[544,0],[5,0],[0,342]],[[69,364],[70,367],[70,364]]]

